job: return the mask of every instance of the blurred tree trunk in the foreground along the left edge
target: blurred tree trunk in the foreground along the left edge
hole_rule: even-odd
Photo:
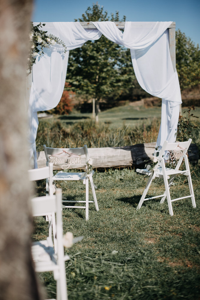
[[[40,299],[31,260],[25,71],[32,0],[0,0],[0,299]]]

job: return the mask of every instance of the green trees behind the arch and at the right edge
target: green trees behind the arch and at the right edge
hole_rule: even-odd
[[[125,20],[125,16],[119,19],[118,12],[109,17],[96,3],[88,7],[79,22]],[[181,90],[200,83],[199,45],[195,46],[180,30],[176,32],[176,68]],[[85,108],[88,100],[93,99],[93,113],[95,104],[96,115],[100,104],[109,107],[117,105],[120,100],[135,101],[149,96],[136,80],[130,49],[109,41],[103,35],[97,41],[88,41],[81,48],[70,51],[66,81],[70,85],[67,90],[80,95]]]

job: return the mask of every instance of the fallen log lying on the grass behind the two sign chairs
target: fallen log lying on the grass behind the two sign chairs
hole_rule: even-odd
[[[154,154],[156,142],[136,144],[122,147],[104,147],[88,148],[88,154],[93,159],[94,168],[112,168],[112,167],[144,167],[145,160],[151,159]],[[190,163],[196,164],[199,158],[199,152],[196,144],[191,144],[188,157]],[[37,152],[38,168],[46,166],[46,157],[44,151]],[[71,164],[70,169],[84,169],[85,161],[81,159],[79,164]],[[61,170],[61,166],[54,166],[54,170]]]

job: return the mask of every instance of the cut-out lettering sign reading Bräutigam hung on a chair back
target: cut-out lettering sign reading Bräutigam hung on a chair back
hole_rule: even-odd
[[[63,150],[61,153],[50,155],[49,163],[60,165],[63,170],[66,170],[69,169],[71,165],[80,164],[81,156]]]

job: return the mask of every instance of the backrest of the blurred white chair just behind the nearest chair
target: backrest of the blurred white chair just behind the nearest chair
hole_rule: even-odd
[[[53,164],[49,164],[48,167],[38,168],[38,169],[31,169],[28,170],[28,178],[30,181],[36,181],[41,179],[46,179],[48,187],[49,187],[49,195],[53,194]]]

